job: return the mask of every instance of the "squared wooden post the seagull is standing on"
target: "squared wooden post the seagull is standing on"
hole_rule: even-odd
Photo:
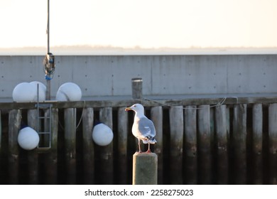
[[[158,181],[158,156],[139,154],[133,156],[133,185],[156,185]]]

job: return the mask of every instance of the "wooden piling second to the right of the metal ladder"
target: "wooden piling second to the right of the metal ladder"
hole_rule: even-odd
[[[76,109],[65,109],[65,164],[67,183],[76,183]]]

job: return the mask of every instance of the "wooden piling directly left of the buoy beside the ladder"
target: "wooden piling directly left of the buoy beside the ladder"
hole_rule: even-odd
[[[18,131],[21,128],[21,110],[12,109],[9,112],[9,183],[18,184],[18,166],[19,166],[19,149],[18,149]]]

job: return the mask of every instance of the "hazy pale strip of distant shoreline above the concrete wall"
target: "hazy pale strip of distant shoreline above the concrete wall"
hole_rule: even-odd
[[[50,52],[56,55],[229,55],[229,54],[277,54],[277,47],[198,47],[190,48],[132,48],[112,45],[56,45]],[[76,52],[78,50],[78,52]],[[1,48],[0,55],[45,55],[45,46]],[[60,51],[60,52],[59,52]]]

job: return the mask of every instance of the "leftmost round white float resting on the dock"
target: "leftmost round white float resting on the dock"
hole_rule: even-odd
[[[21,82],[13,88],[13,101],[14,102],[32,102],[36,97],[36,90],[28,82]]]

